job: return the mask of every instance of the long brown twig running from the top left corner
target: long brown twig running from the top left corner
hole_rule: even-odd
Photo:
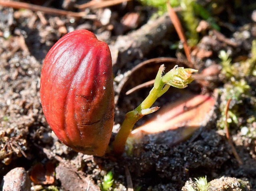
[[[42,11],[47,14],[73,16],[73,17],[78,17],[78,18],[83,17],[86,19],[96,19],[96,16],[86,15],[85,12],[71,12],[71,11],[59,10],[59,9],[55,9],[55,8],[48,8],[48,7],[39,6],[39,5],[33,5],[33,4],[29,4],[29,3],[24,3],[24,2],[0,0],[0,5],[6,6],[6,7],[12,7],[12,8],[16,8],[16,9],[29,9],[32,11]]]

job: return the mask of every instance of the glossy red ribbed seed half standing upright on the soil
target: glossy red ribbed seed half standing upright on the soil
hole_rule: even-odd
[[[103,156],[114,121],[108,45],[87,30],[62,37],[42,66],[40,96],[56,136],[77,152]]]

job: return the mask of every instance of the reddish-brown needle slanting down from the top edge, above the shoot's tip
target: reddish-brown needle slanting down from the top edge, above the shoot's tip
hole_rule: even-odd
[[[186,57],[189,62],[188,66],[191,68],[194,68],[194,65],[191,62],[190,49],[188,47],[188,43],[187,43],[186,37],[184,35],[184,31],[180,24],[180,20],[178,19],[178,16],[175,13],[174,9],[171,7],[169,0],[166,1],[166,6],[167,6],[167,11],[168,11],[169,17],[174,25],[174,28],[175,28],[176,32],[178,33],[180,41],[182,41],[182,43],[183,43],[183,48],[184,48]]]

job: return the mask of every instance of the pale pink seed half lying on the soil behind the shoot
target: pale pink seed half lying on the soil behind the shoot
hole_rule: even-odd
[[[144,142],[148,136],[156,143],[170,146],[186,140],[195,130],[207,124],[215,102],[207,95],[182,98],[159,110],[156,118],[133,130],[128,143]]]

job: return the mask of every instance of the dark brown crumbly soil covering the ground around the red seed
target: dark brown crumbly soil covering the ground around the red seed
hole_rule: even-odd
[[[47,2],[30,1],[32,4],[74,12],[78,11],[74,4],[85,1]],[[207,28],[199,33],[200,41],[192,49],[193,63],[199,73],[211,65],[220,65],[218,54],[221,50],[228,51],[232,63],[237,65],[253,56],[252,40],[256,38],[255,3],[234,2],[199,2],[206,8],[217,5],[216,9],[211,9],[211,14],[220,26],[219,32]],[[242,4],[236,6],[239,2]],[[242,164],[236,158],[225,130],[218,126],[223,116],[223,104],[226,106],[226,97],[229,95],[226,91],[228,79],[219,72],[212,75],[214,80],[210,83],[198,79],[186,91],[171,89],[154,104],[164,106],[187,92],[207,93],[216,98],[206,124],[187,140],[180,140],[170,146],[156,143],[154,138],[149,137],[143,143],[136,143],[132,154],[124,153],[119,157],[106,154],[101,158],[76,153],[58,140],[48,126],[40,104],[40,72],[50,47],[67,32],[90,30],[111,47],[116,109],[110,142],[125,113],[138,106],[151,87],[139,89],[130,95],[125,95],[126,91],[154,79],[162,63],[167,69],[176,63],[186,66],[182,49],[170,48],[177,44],[178,36],[172,23],[166,19],[168,16],[158,16],[154,25],[151,24],[150,20],[156,17],[154,8],[129,1],[110,8],[86,11],[92,19],[0,7],[0,179],[4,190],[14,190],[6,188],[4,184],[12,183],[8,174],[14,176],[17,173],[17,180],[20,181],[16,185],[18,190],[30,190],[28,181],[31,179],[31,190],[96,191],[100,190],[99,185],[109,171],[114,173],[113,188],[110,190],[115,188],[116,191],[131,190],[131,182],[134,191],[185,191],[185,183],[198,190],[194,178],[205,176],[208,182],[211,181],[209,190],[256,190],[255,74],[243,77],[250,89],[247,93],[243,92],[240,99],[233,99],[229,107],[232,111],[239,111],[238,122],[230,124],[230,134]],[[109,19],[108,13],[111,13]],[[127,19],[128,16],[132,17],[131,13],[138,16],[138,19],[133,17],[135,24]],[[179,12],[178,15],[181,18]],[[140,32],[145,26],[148,30]],[[159,35],[150,32],[159,28]],[[138,35],[146,36],[153,43],[145,45],[146,40],[143,38],[140,41],[142,37]],[[134,44],[122,45],[120,39],[126,39],[127,44],[134,40]],[[130,56],[127,56],[128,51]],[[138,67],[142,61],[158,57],[178,59],[172,63],[158,60]],[[118,62],[120,59],[122,62]],[[255,70],[255,61],[252,65],[251,69]],[[136,66],[138,70],[133,71]],[[136,127],[154,116],[156,114],[146,116]],[[38,163],[42,167],[36,166]],[[25,178],[27,176],[30,179]]]

